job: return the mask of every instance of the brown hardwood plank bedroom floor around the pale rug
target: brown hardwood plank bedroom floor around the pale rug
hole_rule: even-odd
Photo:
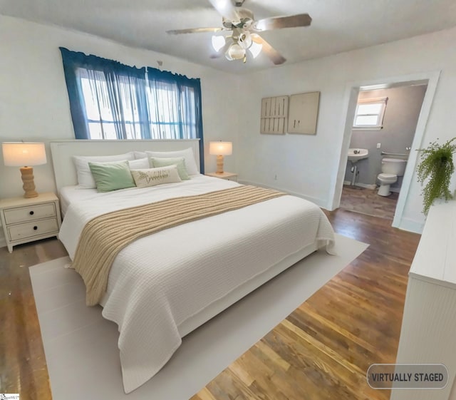
[[[405,288],[419,235],[390,220],[326,212],[336,232],[370,244],[192,400],[389,399],[366,383],[395,361]],[[0,392],[51,399],[28,267],[66,255],[57,240],[0,249]],[[164,399],[173,400],[173,399]]]

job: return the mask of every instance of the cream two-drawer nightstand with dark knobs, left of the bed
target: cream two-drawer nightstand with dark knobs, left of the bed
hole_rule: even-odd
[[[61,225],[58,198],[54,193],[0,200],[0,217],[10,253],[13,246],[21,243],[57,236]]]

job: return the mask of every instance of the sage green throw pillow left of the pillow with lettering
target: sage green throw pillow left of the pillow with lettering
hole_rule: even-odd
[[[98,192],[110,192],[136,186],[126,160],[115,163],[88,163],[88,166]]]

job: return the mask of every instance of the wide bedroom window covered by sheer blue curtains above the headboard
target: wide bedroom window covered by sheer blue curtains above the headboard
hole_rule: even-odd
[[[60,49],[76,139],[199,138],[203,149],[199,79]]]

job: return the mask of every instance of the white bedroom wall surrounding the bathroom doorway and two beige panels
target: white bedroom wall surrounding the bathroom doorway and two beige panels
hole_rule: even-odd
[[[455,40],[456,29],[449,29],[244,76],[237,155],[242,179],[289,190],[331,209],[338,166],[341,157],[346,158],[341,148],[353,83],[441,70],[422,147],[437,138],[452,138]],[[316,135],[260,135],[261,98],[309,91],[321,92]],[[414,179],[403,217],[417,230],[424,222],[421,210],[420,185]]]

